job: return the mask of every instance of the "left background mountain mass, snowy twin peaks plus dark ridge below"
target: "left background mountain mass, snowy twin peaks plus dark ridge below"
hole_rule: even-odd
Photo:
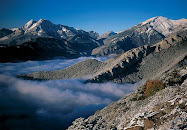
[[[88,56],[94,48],[102,45],[96,40],[99,34],[94,31],[56,25],[46,19],[30,20],[23,27],[12,30],[0,31],[3,34],[0,61]]]

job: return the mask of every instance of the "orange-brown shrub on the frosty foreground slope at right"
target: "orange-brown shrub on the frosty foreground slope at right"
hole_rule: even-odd
[[[154,95],[156,92],[164,89],[164,84],[160,80],[147,81],[145,88],[145,96],[149,97]]]

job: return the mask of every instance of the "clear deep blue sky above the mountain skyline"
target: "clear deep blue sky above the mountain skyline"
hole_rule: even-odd
[[[187,18],[187,0],[0,0],[0,28],[48,19],[98,33],[121,31],[154,16]]]

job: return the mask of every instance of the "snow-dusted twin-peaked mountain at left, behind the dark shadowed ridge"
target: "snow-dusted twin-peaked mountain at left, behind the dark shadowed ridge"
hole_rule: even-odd
[[[56,25],[46,19],[40,19],[39,21],[30,20],[23,27],[14,29],[11,35],[1,38],[0,44],[18,45],[37,37],[67,39],[81,34],[89,35],[86,31],[60,24]]]

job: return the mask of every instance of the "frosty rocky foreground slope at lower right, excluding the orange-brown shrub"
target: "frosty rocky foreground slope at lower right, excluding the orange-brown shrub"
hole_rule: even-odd
[[[159,77],[165,88],[156,94],[145,97],[146,85],[139,86],[136,92],[98,110],[93,116],[76,119],[68,130],[185,129],[187,126],[186,67],[185,65],[170,70]],[[173,73],[178,76],[175,77]],[[167,81],[162,80],[167,75],[170,75]],[[181,82],[175,82],[178,79]],[[175,84],[171,85],[172,82]]]

